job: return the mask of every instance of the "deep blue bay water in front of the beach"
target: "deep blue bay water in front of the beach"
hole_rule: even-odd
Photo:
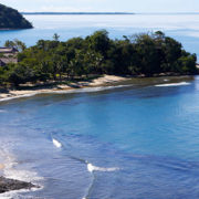
[[[199,198],[199,78],[128,85],[1,102],[4,174],[43,187],[14,197]]]

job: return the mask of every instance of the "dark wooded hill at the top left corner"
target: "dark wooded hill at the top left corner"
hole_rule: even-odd
[[[27,21],[17,10],[0,4],[0,29],[31,29],[32,24]]]

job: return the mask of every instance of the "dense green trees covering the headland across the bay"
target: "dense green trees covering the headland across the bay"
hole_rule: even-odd
[[[19,41],[8,41],[6,45],[21,52],[18,64],[0,69],[1,84],[69,80],[90,74],[197,73],[196,54],[186,52],[179,42],[160,31],[112,40],[102,30],[85,39],[73,38],[66,42],[59,41],[59,35],[54,34],[52,41],[40,40],[28,49]]]

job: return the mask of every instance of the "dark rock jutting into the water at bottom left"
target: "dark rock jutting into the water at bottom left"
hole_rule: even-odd
[[[11,191],[11,190],[31,189],[31,188],[39,188],[39,187],[34,186],[31,182],[0,177],[0,193]]]

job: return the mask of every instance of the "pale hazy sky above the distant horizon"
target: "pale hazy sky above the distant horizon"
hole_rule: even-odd
[[[0,0],[19,11],[198,12],[199,0]]]

